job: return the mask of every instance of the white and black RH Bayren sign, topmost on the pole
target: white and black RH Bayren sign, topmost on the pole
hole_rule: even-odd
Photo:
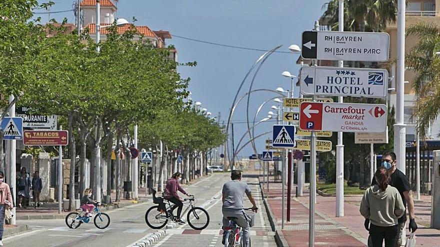
[[[305,59],[377,61],[389,58],[386,32],[302,32],[301,56]]]

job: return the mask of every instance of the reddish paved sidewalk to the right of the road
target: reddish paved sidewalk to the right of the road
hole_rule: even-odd
[[[260,180],[262,181],[262,179]],[[286,190],[287,191],[287,190]],[[292,190],[294,193],[294,190]],[[278,246],[307,247],[308,246],[308,191],[304,190],[303,197],[291,200],[290,222],[284,223],[281,230],[281,184],[269,184],[267,204],[274,216],[279,235]],[[264,196],[265,188],[264,188]],[[344,217],[336,218],[335,198],[316,197],[315,205],[315,246],[344,246],[365,247],[368,232],[363,227],[364,219],[359,214],[361,196],[347,196],[344,204]],[[417,246],[440,247],[440,231],[429,229],[430,197],[422,197],[424,201],[415,207],[416,223],[418,224]],[[286,204],[285,200],[285,204]],[[285,216],[286,217],[286,216]]]

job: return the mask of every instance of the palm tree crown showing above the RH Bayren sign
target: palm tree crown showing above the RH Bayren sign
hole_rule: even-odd
[[[325,3],[322,17],[331,28],[338,26],[338,1]],[[397,0],[344,0],[344,30],[382,31],[396,20]]]

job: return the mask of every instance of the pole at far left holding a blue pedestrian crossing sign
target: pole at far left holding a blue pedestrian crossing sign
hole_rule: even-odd
[[[9,103],[12,102],[13,100],[14,100],[14,96],[9,95]],[[13,104],[10,107],[9,117],[15,117],[15,104]],[[16,186],[15,186],[15,184],[16,184],[16,171],[15,171],[16,170],[15,169],[15,164],[16,164],[15,145],[16,145],[16,143],[15,143],[15,140],[7,140],[6,145],[7,146],[6,146],[6,160],[5,160],[6,166],[5,167],[6,167],[6,171],[8,171],[6,173],[6,178],[7,178],[6,182],[10,186],[10,193],[12,194],[12,201],[15,201],[14,197],[16,197],[16,195],[17,195],[16,194]],[[9,176],[7,177],[7,175],[9,175]],[[16,206],[15,203],[14,203],[14,206]],[[11,219],[12,225],[15,225],[15,223],[16,223],[15,208],[16,207],[12,208],[12,219]]]

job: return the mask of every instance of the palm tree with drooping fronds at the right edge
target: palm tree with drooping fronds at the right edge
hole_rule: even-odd
[[[416,72],[414,90],[416,102],[412,118],[420,137],[426,136],[429,125],[440,112],[440,33],[433,23],[421,22],[406,29],[406,35],[418,37],[418,43],[406,55],[407,66]]]

